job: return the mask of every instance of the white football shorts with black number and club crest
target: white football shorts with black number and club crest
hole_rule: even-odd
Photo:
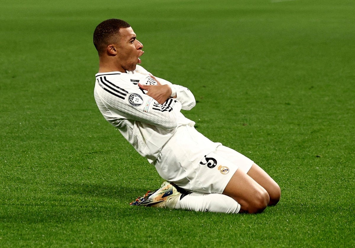
[[[235,171],[253,163],[190,126],[180,126],[153,162],[164,180],[196,193],[223,193]]]

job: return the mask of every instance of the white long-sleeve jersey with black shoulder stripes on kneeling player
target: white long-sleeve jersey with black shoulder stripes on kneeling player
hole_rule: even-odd
[[[196,104],[192,92],[183,86],[156,77],[160,84],[176,90],[176,98],[160,105],[138,87],[138,83],[157,84],[139,65],[133,72],[97,73],[95,77],[94,97],[100,112],[149,163],[157,159],[179,126],[195,125],[180,112]]]

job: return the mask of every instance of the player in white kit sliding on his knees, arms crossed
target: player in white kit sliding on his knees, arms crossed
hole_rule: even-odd
[[[203,136],[180,112],[195,106],[189,89],[139,65],[143,45],[127,22],[103,21],[93,42],[99,55],[94,97],[100,112],[166,180],[132,205],[260,213],[279,201],[280,187],[263,169]]]

